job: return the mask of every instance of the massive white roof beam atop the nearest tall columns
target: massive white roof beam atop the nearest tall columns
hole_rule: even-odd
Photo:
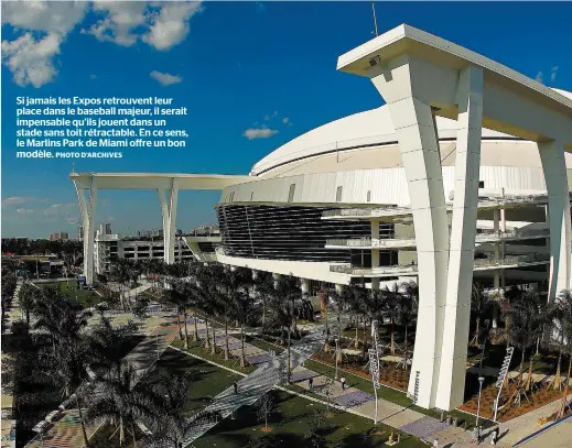
[[[572,152],[572,100],[527,76],[457,44],[407,24],[395,28],[338,57],[337,69],[374,78],[390,76],[403,56],[417,57],[443,70],[473,65],[483,69],[483,127],[531,141],[561,139]],[[401,62],[400,62],[401,59]],[[423,74],[420,74],[423,76]],[[412,76],[413,77],[413,76]],[[451,77],[454,84],[458,78]],[[444,91],[447,80],[435,77],[435,92]],[[451,86],[456,89],[455,86]],[[454,100],[430,98],[439,116],[456,119]],[[451,98],[452,96],[450,96]],[[440,102],[442,100],[442,102]],[[538,120],[537,114],[543,114]]]

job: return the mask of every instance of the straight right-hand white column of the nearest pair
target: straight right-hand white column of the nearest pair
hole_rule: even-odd
[[[483,130],[483,70],[468,66],[457,87],[458,131],[444,336],[435,406],[452,409],[463,404],[471,319],[471,291]]]

